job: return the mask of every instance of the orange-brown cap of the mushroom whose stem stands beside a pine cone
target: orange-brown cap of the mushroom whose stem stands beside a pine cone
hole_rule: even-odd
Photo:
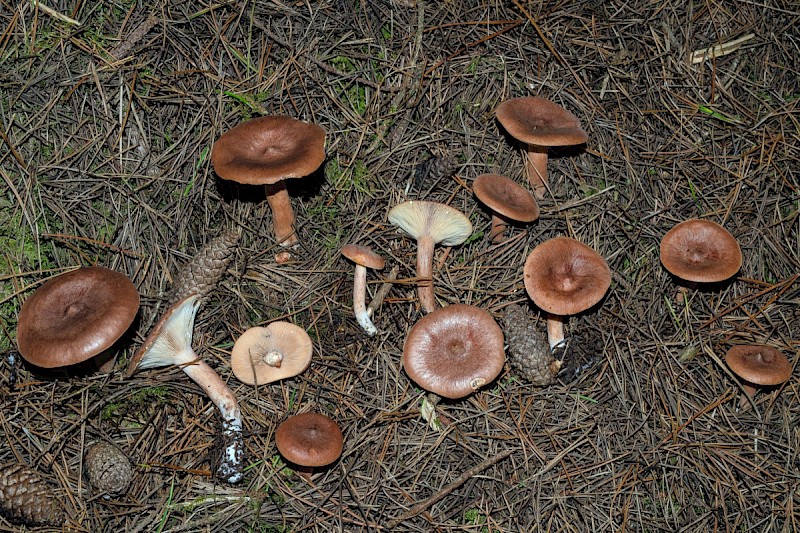
[[[582,242],[556,237],[533,249],[525,261],[525,290],[543,311],[574,315],[603,299],[611,270]]]

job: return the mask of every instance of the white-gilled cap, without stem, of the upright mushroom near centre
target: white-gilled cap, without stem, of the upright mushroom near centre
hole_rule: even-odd
[[[414,239],[431,237],[444,246],[461,244],[472,234],[472,223],[464,213],[438,202],[409,200],[389,210],[389,222]]]

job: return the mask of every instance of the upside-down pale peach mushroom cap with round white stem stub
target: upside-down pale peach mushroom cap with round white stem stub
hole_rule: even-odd
[[[311,363],[308,333],[289,322],[250,328],[231,350],[231,370],[248,385],[264,385],[298,375]]]

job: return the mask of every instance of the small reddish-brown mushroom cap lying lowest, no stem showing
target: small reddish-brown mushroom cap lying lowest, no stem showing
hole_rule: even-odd
[[[325,415],[302,413],[281,422],[275,445],[287,461],[300,466],[325,466],[342,455],[339,425]]]

